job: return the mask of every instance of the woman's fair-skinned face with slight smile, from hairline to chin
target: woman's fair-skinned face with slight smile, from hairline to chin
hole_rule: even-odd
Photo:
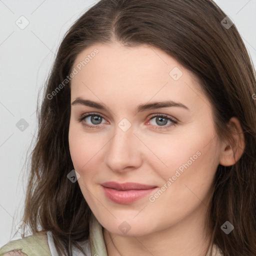
[[[86,48],[72,68],[70,154],[101,225],[142,235],[201,223],[220,143],[191,73],[158,48],[117,42]]]

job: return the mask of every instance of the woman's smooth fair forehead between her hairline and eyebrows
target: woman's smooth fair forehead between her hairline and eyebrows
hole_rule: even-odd
[[[81,51],[72,68],[71,98],[195,101],[200,86],[190,71],[164,51],[149,46],[127,47],[118,42],[94,44]],[[196,92],[195,92],[196,91]],[[201,95],[203,96],[203,95]]]

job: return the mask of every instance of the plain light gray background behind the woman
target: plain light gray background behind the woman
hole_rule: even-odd
[[[26,187],[21,170],[36,131],[39,88],[64,33],[96,2],[0,0],[0,247],[20,238],[13,234],[20,222]],[[256,63],[256,0],[215,2],[234,21]],[[15,23],[21,23],[22,15],[29,21],[24,29]],[[16,126],[21,118],[28,123],[23,131]]]

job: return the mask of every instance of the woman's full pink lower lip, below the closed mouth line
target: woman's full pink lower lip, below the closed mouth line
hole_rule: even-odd
[[[108,199],[116,203],[128,204],[134,202],[147,194],[151,193],[157,187],[150,189],[132,189],[132,190],[116,190],[113,188],[102,186],[104,193]]]

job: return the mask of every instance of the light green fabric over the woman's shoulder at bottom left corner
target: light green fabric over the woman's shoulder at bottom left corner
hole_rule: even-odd
[[[0,256],[51,256],[46,232],[37,232],[9,241],[0,248]]]

